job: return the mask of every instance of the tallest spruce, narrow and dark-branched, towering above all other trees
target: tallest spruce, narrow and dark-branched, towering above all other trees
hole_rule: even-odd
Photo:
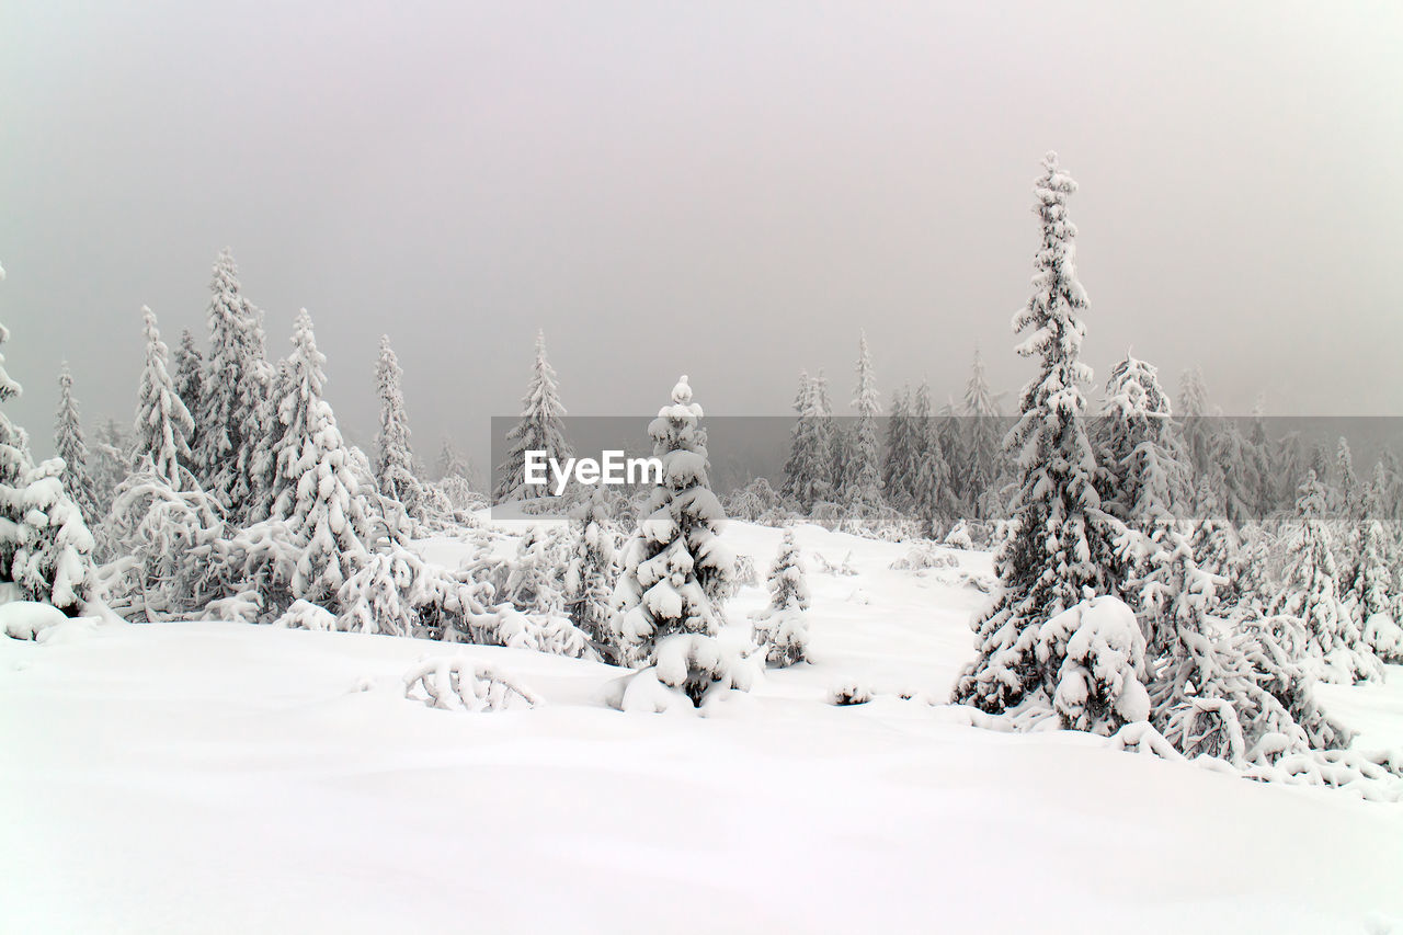
[[[1101,510],[1096,452],[1086,432],[1082,386],[1092,368],[1080,361],[1086,291],[1076,278],[1066,199],[1076,183],[1042,161],[1035,183],[1041,244],[1034,258],[1033,296],[1013,319],[1027,338],[1023,357],[1040,359],[1038,375],[1023,389],[1019,421],[1006,439],[1020,472],[1012,517],[995,555],[1002,584],[993,605],[975,622],[978,658],[960,677],[954,701],[998,713],[1058,684],[1062,660],[1040,653],[1041,625],[1080,602],[1087,591],[1111,590],[1118,524]]]

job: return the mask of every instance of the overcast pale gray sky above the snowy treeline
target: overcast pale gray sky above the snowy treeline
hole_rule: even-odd
[[[1397,3],[8,0],[10,411],[51,451],[67,358],[130,418],[139,307],[202,336],[226,244],[362,441],[390,334],[429,459],[537,327],[575,414],[846,403],[859,326],[884,397],[975,343],[1013,389],[1056,149],[1099,382],[1134,345],[1228,411],[1403,413],[1400,48]]]

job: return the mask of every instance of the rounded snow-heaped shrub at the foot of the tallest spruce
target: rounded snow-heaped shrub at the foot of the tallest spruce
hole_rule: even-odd
[[[1054,679],[1048,694],[1063,727],[1110,736],[1149,719],[1145,636],[1118,598],[1086,599],[1051,618],[1038,632],[1037,657]]]

